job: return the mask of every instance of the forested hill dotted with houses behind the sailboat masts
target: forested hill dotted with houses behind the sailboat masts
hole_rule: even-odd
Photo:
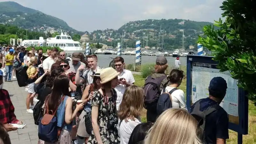
[[[133,48],[135,41],[140,40],[142,47],[157,48],[159,46],[161,49],[163,45],[164,49],[176,49],[182,46],[182,30],[184,30],[184,48],[188,49],[190,45],[196,47],[198,35],[203,34],[202,27],[205,25],[212,25],[212,23],[182,19],[148,19],[128,22],[118,30],[96,30],[90,33],[90,36],[95,41],[108,43],[113,47],[117,42],[121,42],[123,35],[123,47]]]

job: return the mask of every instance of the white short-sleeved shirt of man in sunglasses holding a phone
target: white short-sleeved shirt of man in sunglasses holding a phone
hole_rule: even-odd
[[[132,72],[130,70],[124,69],[121,74],[118,75],[118,79],[125,78],[126,82],[132,84],[135,82]],[[126,90],[126,86],[124,84],[119,84],[115,87],[117,93],[116,99],[116,110],[119,110],[119,105],[123,100],[124,91]]]

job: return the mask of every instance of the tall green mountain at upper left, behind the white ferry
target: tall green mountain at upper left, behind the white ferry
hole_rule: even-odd
[[[76,31],[64,20],[24,7],[16,2],[0,2],[0,23],[28,29],[40,28],[44,25],[58,29],[61,26],[64,30]]]

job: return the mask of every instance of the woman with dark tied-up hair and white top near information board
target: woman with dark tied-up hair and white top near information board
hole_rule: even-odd
[[[167,82],[164,84],[163,92],[170,92],[172,89],[180,86],[183,79],[183,71],[179,69],[172,69],[170,75],[167,77]],[[172,108],[183,108],[187,110],[185,94],[178,89],[172,92]]]

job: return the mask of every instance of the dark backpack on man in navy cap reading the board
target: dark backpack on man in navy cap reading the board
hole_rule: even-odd
[[[200,103],[201,100],[198,100],[194,104],[194,109],[193,111],[190,112],[190,114],[196,118],[198,121],[198,126],[199,126],[199,138],[202,140],[203,143],[206,143],[205,141],[205,135],[204,135],[204,127],[205,127],[205,118],[206,116],[210,115],[214,111],[218,110],[220,108],[219,105],[212,105],[203,111],[200,111]]]

